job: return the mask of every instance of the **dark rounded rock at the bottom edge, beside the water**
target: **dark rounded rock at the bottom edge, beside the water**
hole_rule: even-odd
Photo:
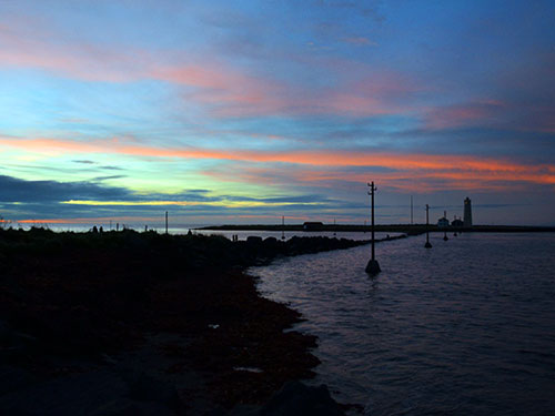
[[[260,416],[341,416],[325,385],[310,387],[300,382],[283,386],[259,412]]]

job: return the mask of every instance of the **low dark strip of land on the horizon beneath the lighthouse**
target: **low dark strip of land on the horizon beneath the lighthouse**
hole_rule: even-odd
[[[253,224],[253,225],[218,225],[204,226],[195,230],[202,231],[304,231],[303,224]],[[306,230],[309,232],[366,232],[372,231],[370,225],[357,224],[322,224],[317,230]],[[428,232],[477,232],[477,233],[553,233],[555,226],[535,226],[535,225],[473,225],[438,227],[434,224],[381,224],[375,225],[375,232],[404,233],[407,235],[417,235]]]

